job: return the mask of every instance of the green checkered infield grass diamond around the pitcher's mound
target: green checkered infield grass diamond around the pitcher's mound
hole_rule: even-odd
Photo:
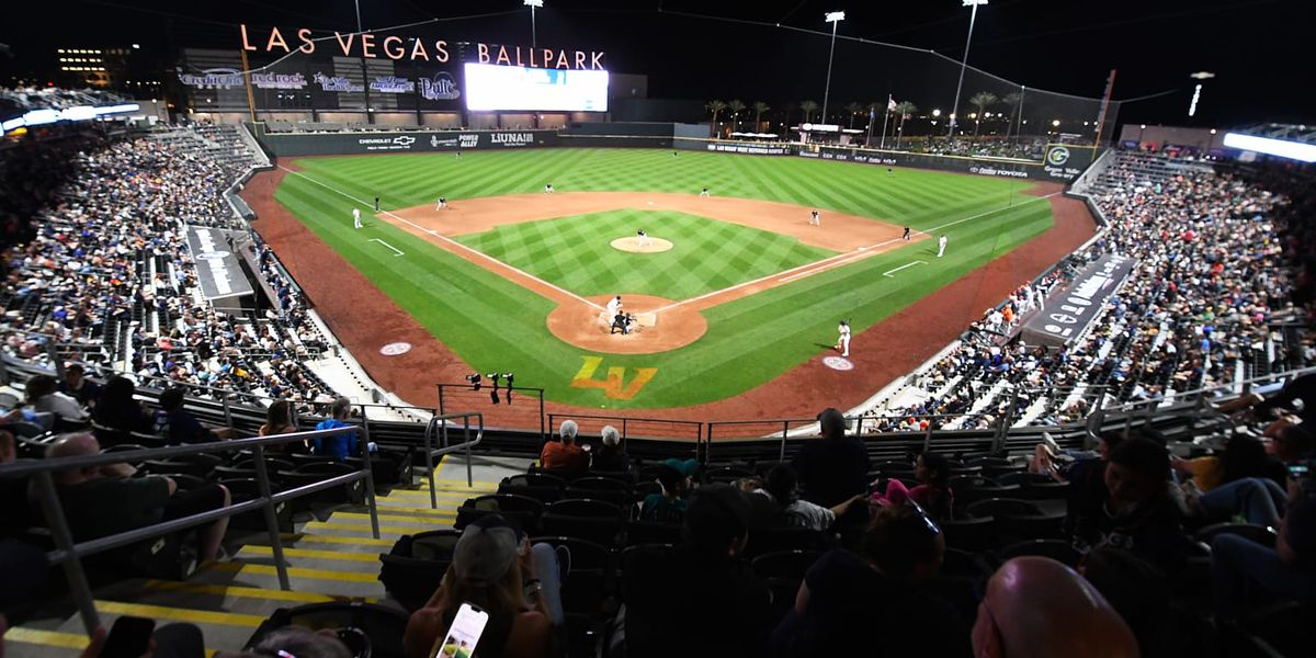
[[[612,241],[644,228],[670,251],[633,254]],[[611,211],[459,236],[466,246],[576,295],[642,293],[680,300],[811,263],[836,251],[671,211]]]

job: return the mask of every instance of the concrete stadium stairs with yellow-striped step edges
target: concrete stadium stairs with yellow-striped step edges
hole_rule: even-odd
[[[134,578],[99,587],[96,609],[107,628],[120,615],[154,619],[157,625],[196,624],[208,655],[212,650],[240,650],[279,608],[363,601],[401,609],[388,600],[378,579],[379,554],[388,553],[403,534],[451,528],[466,499],[494,494],[503,476],[525,472],[526,466],[528,459],[476,458],[475,482],[467,487],[465,463],[457,457],[445,459],[434,479],[437,509],[429,507],[429,484],[424,480],[376,495],[378,540],[371,537],[365,507],[317,505],[317,516],[303,515],[296,532],[283,536],[291,591],[279,588],[267,534],[230,526],[225,540],[228,559],[201,565],[186,580]],[[12,628],[5,644],[9,655],[70,657],[78,655],[87,637],[71,604],[61,599]]]

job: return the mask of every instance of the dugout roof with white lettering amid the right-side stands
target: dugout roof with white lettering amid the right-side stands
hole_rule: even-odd
[[[1059,347],[1083,337],[1137,265],[1137,259],[1116,254],[1096,259],[1065,290],[1046,296],[1042,309],[1024,322],[1020,340],[1028,345]]]

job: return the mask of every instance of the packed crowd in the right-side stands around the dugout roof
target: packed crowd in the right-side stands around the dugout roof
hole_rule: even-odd
[[[1132,158],[1123,154],[1096,191],[1109,222],[1104,233],[990,309],[949,354],[916,374],[921,401],[875,413],[879,429],[923,429],[917,416],[932,413],[961,416],[946,421],[950,428],[991,426],[1005,415],[1074,421],[1103,396],[1167,399],[1316,362],[1312,337],[1298,329],[1313,308],[1316,237],[1309,222],[1295,221],[1311,208],[1309,183],[1267,176],[1262,187],[1246,174],[1202,168],[1152,180],[1138,161],[1125,161]],[[1104,254],[1138,266],[1088,333],[1059,350],[994,340],[1013,336],[1048,290]],[[1016,395],[1036,390],[1049,393]]]

